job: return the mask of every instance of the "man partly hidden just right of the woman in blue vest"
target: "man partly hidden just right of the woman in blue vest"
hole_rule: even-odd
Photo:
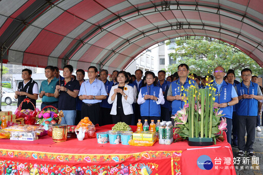
[[[160,70],[158,72],[158,86],[162,88],[162,93],[165,100],[164,104],[161,105],[161,121],[171,121],[170,108],[172,112],[172,103],[170,101],[167,101],[167,92],[171,85],[171,82],[165,80],[165,73],[166,72],[164,70]]]

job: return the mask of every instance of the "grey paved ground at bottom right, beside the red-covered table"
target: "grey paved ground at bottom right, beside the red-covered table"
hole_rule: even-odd
[[[261,132],[256,131],[256,135],[255,135],[255,142],[254,142],[254,153],[256,154],[256,158],[252,159],[250,157],[246,157],[246,155],[244,157],[240,157],[237,155],[237,152],[239,151],[237,147],[233,147],[232,146],[232,150],[233,150],[233,156],[234,159],[236,158],[236,160],[240,160],[239,165],[238,161],[236,162],[236,164],[234,164],[235,169],[236,169],[236,174],[237,175],[251,175],[251,174],[263,174],[263,127],[261,126]],[[239,159],[240,157],[240,159]],[[257,161],[258,159],[258,161]],[[253,165],[252,165],[253,163]],[[258,165],[257,165],[258,164]]]

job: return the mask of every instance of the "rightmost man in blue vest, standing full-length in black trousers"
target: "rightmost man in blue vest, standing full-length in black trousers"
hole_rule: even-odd
[[[242,82],[236,85],[239,103],[236,108],[238,115],[238,149],[237,155],[243,156],[245,151],[250,157],[255,157],[253,144],[257,121],[258,101],[263,99],[258,84],[251,82],[252,71],[245,68],[241,71]],[[247,142],[245,135],[247,131]]]

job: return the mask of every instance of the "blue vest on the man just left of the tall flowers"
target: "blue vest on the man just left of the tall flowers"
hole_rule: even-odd
[[[191,85],[195,86],[195,81],[189,79],[188,77],[186,78],[186,81],[184,82],[183,85],[180,85],[180,78],[176,81],[173,81],[171,83],[173,96],[175,95],[183,96],[184,94],[185,96],[187,96],[185,89],[188,89]],[[183,91],[181,91],[181,86],[183,86],[184,88]],[[184,105],[184,101],[174,100],[172,102],[172,114],[174,115],[177,113],[178,110],[183,109],[183,105]]]

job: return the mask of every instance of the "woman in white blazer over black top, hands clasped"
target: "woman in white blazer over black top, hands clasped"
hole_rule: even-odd
[[[134,103],[134,88],[126,84],[128,75],[125,71],[120,71],[117,74],[118,85],[112,86],[109,92],[108,103],[112,104],[110,114],[112,122],[125,122],[127,125],[132,124],[133,106]]]

